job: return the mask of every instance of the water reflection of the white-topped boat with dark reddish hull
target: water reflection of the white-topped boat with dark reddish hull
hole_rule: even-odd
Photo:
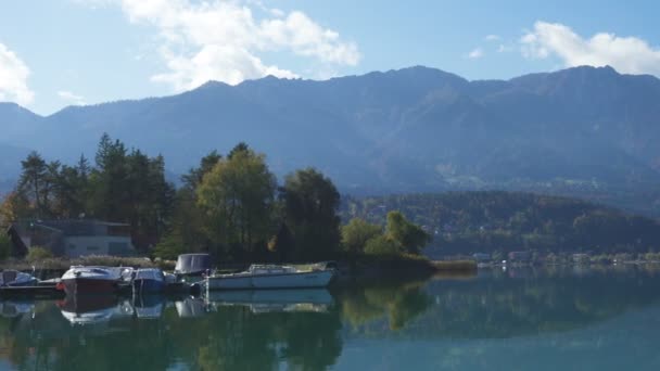
[[[130,304],[112,295],[66,296],[58,304],[62,316],[72,324],[92,324],[110,321],[113,317],[132,316]]]

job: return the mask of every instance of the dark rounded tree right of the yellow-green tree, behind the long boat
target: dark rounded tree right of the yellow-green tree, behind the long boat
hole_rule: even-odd
[[[329,178],[313,168],[290,174],[285,177],[280,200],[299,258],[318,259],[337,252],[340,195]]]

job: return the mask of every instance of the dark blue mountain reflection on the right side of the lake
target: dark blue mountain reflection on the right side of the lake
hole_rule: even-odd
[[[358,333],[415,338],[492,338],[571,331],[660,300],[660,274],[566,269],[513,269],[502,277],[431,281],[432,305],[401,332],[378,332],[366,322]],[[364,308],[364,306],[363,306]]]

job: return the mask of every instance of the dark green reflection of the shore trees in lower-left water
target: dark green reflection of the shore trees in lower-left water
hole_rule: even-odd
[[[243,306],[198,318],[166,308],[158,319],[120,316],[80,327],[48,302],[37,306],[34,319],[0,318],[0,346],[4,358],[24,369],[164,370],[182,362],[201,370],[267,370],[287,362],[320,370],[341,354],[340,330],[337,309],[254,314]]]

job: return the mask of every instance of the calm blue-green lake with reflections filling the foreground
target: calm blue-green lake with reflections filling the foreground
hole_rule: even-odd
[[[1,316],[0,369],[660,369],[660,271],[644,266],[4,300]]]

